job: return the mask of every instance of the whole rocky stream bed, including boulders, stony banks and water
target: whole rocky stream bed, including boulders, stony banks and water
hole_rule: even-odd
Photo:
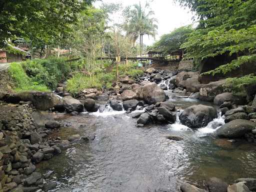
[[[77,98],[1,93],[0,191],[255,191],[256,99],[224,81],[149,68]]]

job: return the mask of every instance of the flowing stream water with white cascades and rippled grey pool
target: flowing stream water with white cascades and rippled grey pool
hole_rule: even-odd
[[[208,104],[166,91],[177,108]],[[38,165],[48,180],[58,182],[54,191],[178,191],[181,182],[201,185],[211,176],[232,182],[238,177],[256,177],[255,149],[251,144],[214,138],[224,123],[221,114],[206,127],[191,130],[179,122],[136,127],[125,111],[66,115],[59,136],[93,133],[92,141],[79,140],[60,155]],[[167,139],[167,134],[184,140]]]

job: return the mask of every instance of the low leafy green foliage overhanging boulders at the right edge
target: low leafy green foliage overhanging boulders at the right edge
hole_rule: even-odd
[[[242,77],[227,78],[224,84],[225,91],[239,94],[246,94],[246,86],[256,84],[255,74],[248,74]]]

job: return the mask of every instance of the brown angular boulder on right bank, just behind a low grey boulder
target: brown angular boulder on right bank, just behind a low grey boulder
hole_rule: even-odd
[[[201,86],[199,92],[200,92],[200,99],[201,100],[207,100],[207,101],[213,101],[214,97],[220,93],[223,92],[226,80],[218,80],[214,82],[210,82],[208,84],[205,84]]]

